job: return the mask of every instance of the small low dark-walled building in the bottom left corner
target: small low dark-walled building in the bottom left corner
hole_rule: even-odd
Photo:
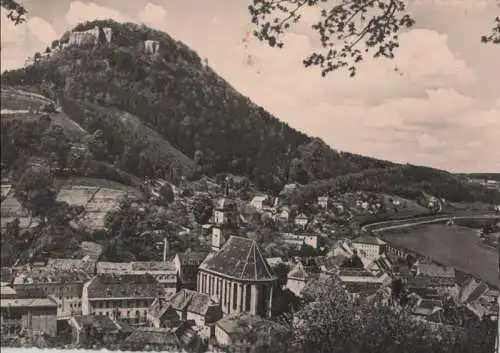
[[[18,337],[21,332],[43,332],[57,335],[57,303],[47,297],[25,296],[5,291],[0,298],[1,334],[4,337]]]

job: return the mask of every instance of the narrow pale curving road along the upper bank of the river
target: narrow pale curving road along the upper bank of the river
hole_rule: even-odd
[[[477,214],[477,215],[435,215],[419,218],[408,218],[408,219],[398,219],[393,221],[383,221],[366,224],[361,229],[363,231],[371,231],[373,233],[379,233],[386,230],[409,228],[423,224],[440,223],[446,222],[450,219],[460,220],[460,219],[498,219],[500,221],[499,214]]]

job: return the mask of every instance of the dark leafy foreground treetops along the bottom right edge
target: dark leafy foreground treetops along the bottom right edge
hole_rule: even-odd
[[[492,327],[462,329],[420,322],[404,310],[352,300],[335,278],[312,281],[303,294],[310,302],[295,315],[296,352],[472,353],[493,349]]]

